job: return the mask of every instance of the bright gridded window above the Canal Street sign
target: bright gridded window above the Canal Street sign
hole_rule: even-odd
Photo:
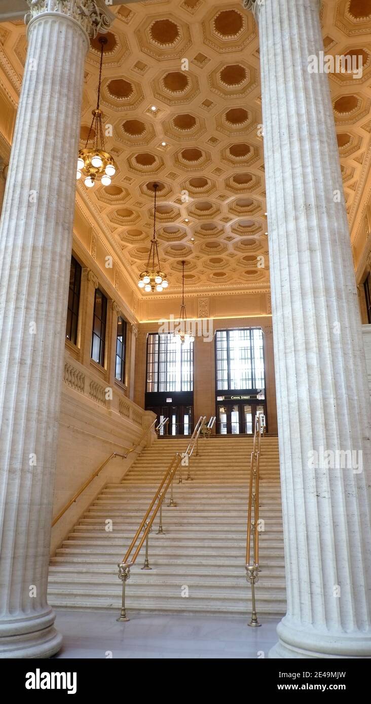
[[[263,332],[249,327],[215,332],[218,390],[265,389]]]

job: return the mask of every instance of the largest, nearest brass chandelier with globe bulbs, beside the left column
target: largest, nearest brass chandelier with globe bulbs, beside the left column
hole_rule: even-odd
[[[101,63],[99,65],[98,101],[95,110],[92,111],[93,119],[90,125],[89,134],[84,149],[80,149],[77,159],[77,180],[84,175],[84,184],[87,188],[92,188],[99,178],[103,186],[109,186],[111,177],[115,175],[115,167],[111,154],[106,151],[104,144],[104,133],[102,125],[102,111],[99,107],[101,100],[101,77],[103,63],[103,46],[107,44],[106,37],[99,37],[101,44]],[[87,146],[90,136],[93,135],[93,146]]]

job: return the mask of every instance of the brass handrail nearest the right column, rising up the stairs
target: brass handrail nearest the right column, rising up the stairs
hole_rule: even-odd
[[[255,585],[258,582],[259,567],[259,470],[260,470],[260,444],[265,432],[265,416],[259,413],[255,417],[253,434],[253,451],[250,463],[249,503],[247,512],[247,538],[246,538],[246,577],[251,584],[251,621],[249,626],[261,626],[256,615]],[[251,562],[251,534],[253,536],[252,562]]]

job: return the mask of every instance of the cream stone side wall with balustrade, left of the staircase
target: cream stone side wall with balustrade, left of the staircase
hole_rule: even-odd
[[[107,400],[106,396],[111,396],[109,388],[94,370],[70,358],[66,351],[54,517],[111,453],[126,454],[155,420],[153,413],[139,408],[120,389],[112,389],[112,398]],[[148,434],[142,446],[153,441],[154,437],[153,432]],[[120,481],[136,457],[137,453],[130,453],[127,460],[113,458],[93,479],[53,527],[51,554],[55,553],[104,484]]]

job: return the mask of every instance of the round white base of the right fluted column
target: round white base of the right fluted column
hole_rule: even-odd
[[[284,619],[277,626],[277,635],[278,643],[268,653],[270,659],[371,658],[371,631],[331,634]]]

